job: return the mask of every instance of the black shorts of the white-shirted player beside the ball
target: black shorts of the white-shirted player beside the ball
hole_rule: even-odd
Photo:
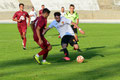
[[[71,35],[65,35],[63,36],[62,40],[61,40],[61,45],[62,44],[67,44],[68,43],[73,46],[74,44],[77,44],[77,41],[75,40],[74,36]]]

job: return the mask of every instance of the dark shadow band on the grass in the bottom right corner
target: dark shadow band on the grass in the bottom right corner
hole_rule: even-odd
[[[99,68],[95,68],[89,71],[77,71],[69,73],[70,75],[66,75],[55,80],[119,80],[118,76],[120,73],[120,63],[115,63],[111,65],[105,65]],[[115,78],[115,76],[117,76]]]

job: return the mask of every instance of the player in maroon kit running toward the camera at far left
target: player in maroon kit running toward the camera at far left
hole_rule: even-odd
[[[17,11],[13,16],[13,21],[17,22],[18,30],[20,32],[22,43],[23,43],[23,49],[26,50],[26,31],[27,31],[27,22],[26,18],[28,18],[28,26],[30,25],[30,17],[29,14],[24,11],[24,4],[19,4],[20,10]]]

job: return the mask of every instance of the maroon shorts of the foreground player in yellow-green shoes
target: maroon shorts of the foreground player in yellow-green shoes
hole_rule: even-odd
[[[43,43],[42,44],[39,44],[39,39],[38,39],[38,37],[35,37],[34,36],[34,41],[42,48],[42,49],[45,49],[45,48],[47,48],[48,46],[50,46],[50,43],[45,39],[45,37],[44,36],[41,36],[41,39],[42,39],[42,41],[43,41]]]

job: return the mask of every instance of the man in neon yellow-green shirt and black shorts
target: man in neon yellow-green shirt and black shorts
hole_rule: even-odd
[[[75,6],[73,4],[70,5],[69,7],[70,11],[68,11],[66,14],[65,14],[65,17],[72,20],[72,22],[76,23],[77,25],[79,24],[79,15],[76,11],[74,11],[75,9]],[[75,39],[76,41],[79,41],[78,40],[78,37],[77,37],[77,28],[74,27],[74,25],[71,25],[74,33],[75,33]]]

